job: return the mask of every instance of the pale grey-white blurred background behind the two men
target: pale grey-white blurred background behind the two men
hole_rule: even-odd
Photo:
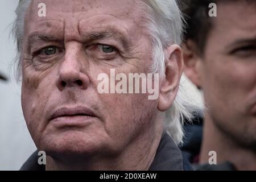
[[[0,6],[0,171],[18,170],[36,150],[28,133],[20,104],[20,84],[15,81],[11,64],[15,58],[15,44],[10,32],[19,0],[2,0]],[[1,76],[0,76],[1,77]],[[184,88],[199,105],[201,94],[183,77]]]

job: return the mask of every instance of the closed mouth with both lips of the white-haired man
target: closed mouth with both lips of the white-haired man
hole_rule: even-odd
[[[93,111],[84,106],[61,107],[53,112],[50,121],[58,126],[81,126],[95,118]]]

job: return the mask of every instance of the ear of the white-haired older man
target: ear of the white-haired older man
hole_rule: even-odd
[[[159,88],[158,110],[166,111],[174,102],[183,72],[183,54],[180,46],[174,44],[166,49],[166,72]]]

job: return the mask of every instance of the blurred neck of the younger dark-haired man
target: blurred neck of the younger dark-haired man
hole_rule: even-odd
[[[208,163],[209,151],[216,151],[217,164],[231,162],[238,170],[256,170],[256,153],[238,144],[236,140],[222,132],[208,113],[205,114],[203,143],[200,163]]]

